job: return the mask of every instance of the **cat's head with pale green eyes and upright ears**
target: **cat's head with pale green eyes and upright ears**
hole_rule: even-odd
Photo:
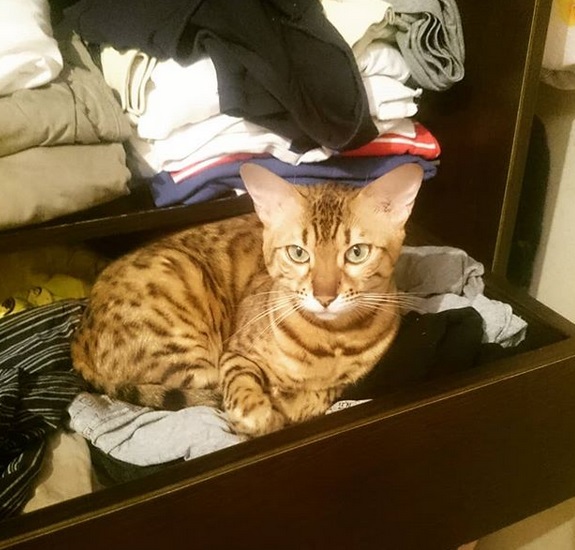
[[[264,258],[303,312],[366,313],[394,291],[393,268],[423,179],[405,164],[363,188],[294,185],[257,164],[241,176],[264,226]]]

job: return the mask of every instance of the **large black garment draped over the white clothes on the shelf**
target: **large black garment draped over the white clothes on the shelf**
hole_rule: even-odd
[[[294,150],[353,149],[377,136],[353,53],[317,0],[80,0],[66,21],[117,49],[183,64],[209,55],[221,112]]]

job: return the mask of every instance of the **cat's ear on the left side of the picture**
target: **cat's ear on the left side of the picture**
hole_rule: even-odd
[[[241,166],[240,175],[264,225],[275,225],[301,213],[301,195],[292,184],[267,168],[246,163]]]

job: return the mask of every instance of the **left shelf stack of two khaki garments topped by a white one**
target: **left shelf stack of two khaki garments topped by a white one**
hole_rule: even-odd
[[[3,0],[0,21],[0,229],[126,194],[131,127],[85,45],[54,36],[47,0]]]

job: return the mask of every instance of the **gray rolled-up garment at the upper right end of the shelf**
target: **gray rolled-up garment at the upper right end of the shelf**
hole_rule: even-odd
[[[395,40],[415,81],[442,91],[465,74],[465,42],[455,0],[388,0]]]

